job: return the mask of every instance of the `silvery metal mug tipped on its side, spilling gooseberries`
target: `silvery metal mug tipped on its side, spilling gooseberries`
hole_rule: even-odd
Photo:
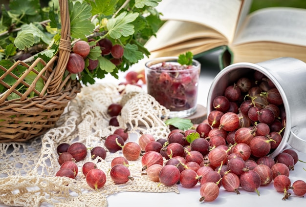
[[[214,109],[212,103],[215,97],[222,95],[228,85],[254,70],[274,83],[283,99],[286,114],[283,139],[268,156],[274,158],[290,146],[306,153],[306,63],[301,60],[282,57],[256,64],[240,62],[225,67],[210,86],[207,114]]]

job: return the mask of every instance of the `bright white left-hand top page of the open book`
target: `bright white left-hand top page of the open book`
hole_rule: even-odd
[[[163,0],[156,7],[162,20],[191,21],[214,28],[233,40],[242,0]]]

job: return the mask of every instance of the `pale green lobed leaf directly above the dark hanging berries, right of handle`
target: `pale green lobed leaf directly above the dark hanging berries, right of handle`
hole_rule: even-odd
[[[122,12],[116,18],[109,19],[107,28],[109,36],[113,39],[119,39],[121,36],[128,37],[134,34],[134,25],[131,24],[138,17],[138,13]]]

